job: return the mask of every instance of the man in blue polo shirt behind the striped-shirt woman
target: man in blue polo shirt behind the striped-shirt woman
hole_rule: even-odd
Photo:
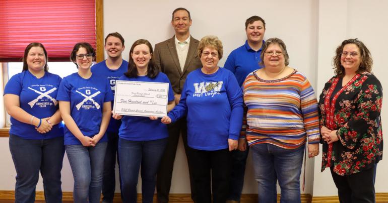
[[[252,16],[245,21],[245,32],[247,37],[245,44],[233,50],[224,65],[224,68],[233,72],[240,86],[249,73],[262,68],[258,63],[261,61],[260,54],[264,44],[266,22],[261,17]],[[246,115],[246,111],[244,114]],[[243,125],[246,125],[246,121],[243,122]],[[240,201],[247,156],[248,147],[245,135],[242,135],[238,140],[238,150],[232,151],[232,174],[227,202]]]

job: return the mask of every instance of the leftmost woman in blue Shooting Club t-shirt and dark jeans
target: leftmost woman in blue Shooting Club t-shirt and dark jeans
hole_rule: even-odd
[[[41,43],[29,44],[23,70],[11,77],[4,102],[11,116],[10,151],[16,169],[15,202],[34,202],[39,170],[46,202],[61,202],[63,129],[55,99],[61,78],[48,72]]]

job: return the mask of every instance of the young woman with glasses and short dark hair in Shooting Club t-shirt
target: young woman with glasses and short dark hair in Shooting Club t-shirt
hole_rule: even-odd
[[[100,202],[102,188],[105,131],[113,94],[109,81],[90,70],[94,55],[89,43],[74,46],[70,58],[78,72],[63,78],[57,96],[65,124],[64,145],[74,177],[74,202]]]

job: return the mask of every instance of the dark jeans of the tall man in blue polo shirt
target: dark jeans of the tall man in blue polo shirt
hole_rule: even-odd
[[[249,153],[248,144],[246,150],[233,150],[231,152],[231,174],[229,181],[228,200],[240,201],[242,186],[244,185],[245,165]]]

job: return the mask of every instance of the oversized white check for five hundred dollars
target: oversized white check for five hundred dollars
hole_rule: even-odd
[[[168,83],[116,80],[113,113],[164,117],[167,100]]]

